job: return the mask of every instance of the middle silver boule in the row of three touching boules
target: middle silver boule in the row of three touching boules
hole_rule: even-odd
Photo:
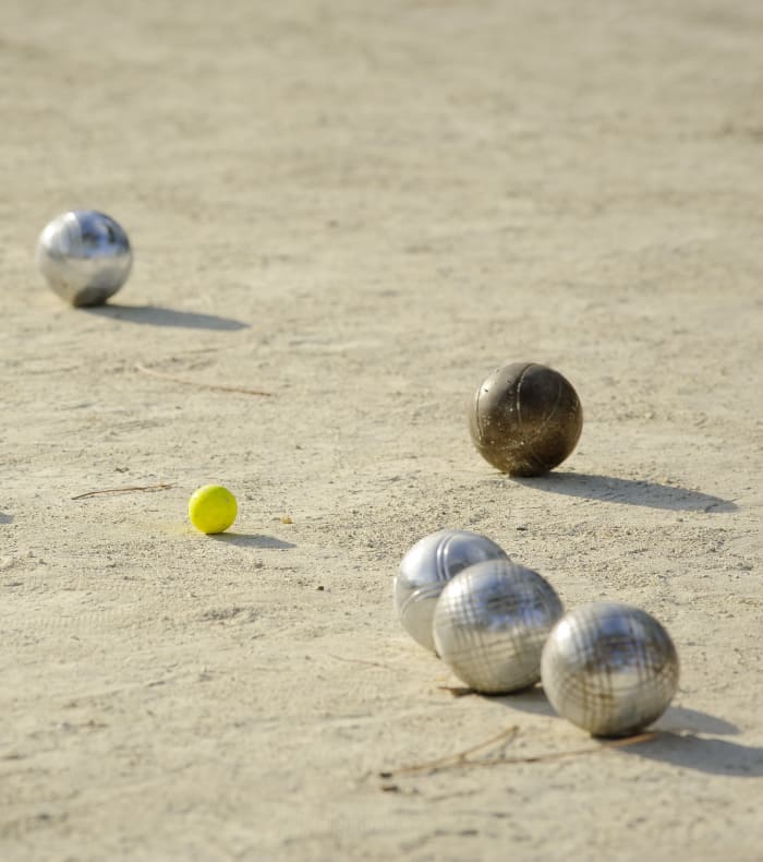
[[[541,653],[564,613],[554,587],[510,560],[489,560],[445,585],[433,632],[440,658],[470,689],[501,694],[541,678]]]

